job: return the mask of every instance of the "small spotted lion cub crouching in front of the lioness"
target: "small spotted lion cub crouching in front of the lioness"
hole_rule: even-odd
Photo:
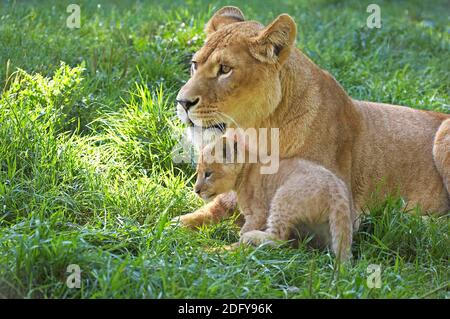
[[[331,247],[341,261],[349,259],[356,217],[344,182],[322,166],[295,158],[281,160],[275,174],[261,174],[259,163],[231,158],[239,146],[224,136],[202,150],[195,192],[206,201],[237,193],[245,217],[240,242],[259,245],[313,235],[316,246]],[[248,147],[243,149],[249,158]]]

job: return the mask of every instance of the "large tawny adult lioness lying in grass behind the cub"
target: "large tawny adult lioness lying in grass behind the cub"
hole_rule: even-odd
[[[350,98],[294,46],[296,24],[287,14],[264,27],[224,7],[205,32],[177,96],[188,126],[279,128],[280,157],[333,172],[358,213],[374,193],[400,195],[424,214],[449,211],[450,115]],[[187,227],[217,222],[235,207],[228,193],[179,220]]]

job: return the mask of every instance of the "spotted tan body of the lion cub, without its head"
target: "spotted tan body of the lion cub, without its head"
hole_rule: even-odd
[[[244,167],[244,170],[246,168]],[[342,260],[351,255],[359,221],[345,183],[323,166],[301,159],[280,162],[276,174],[248,165],[236,193],[245,224],[241,241],[302,239],[330,247]]]

